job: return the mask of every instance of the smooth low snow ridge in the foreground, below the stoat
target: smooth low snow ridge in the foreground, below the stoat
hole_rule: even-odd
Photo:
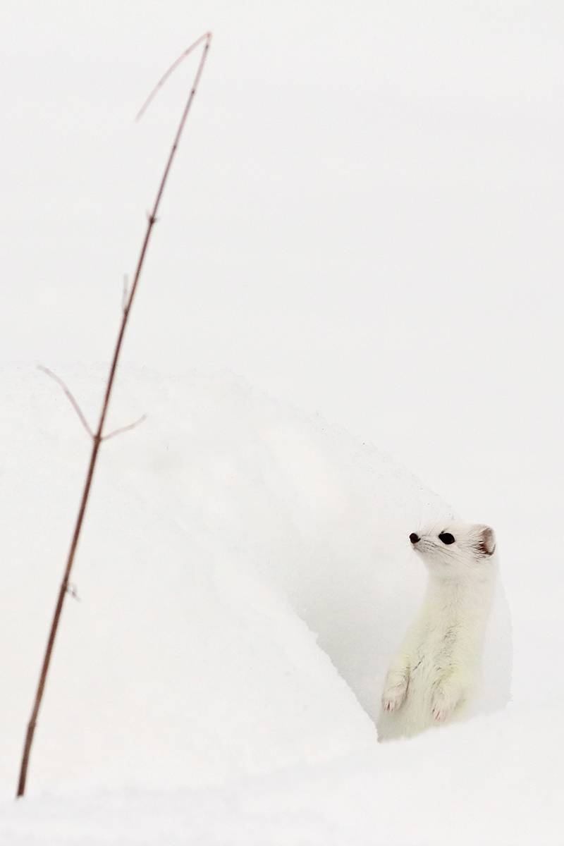
[[[560,846],[561,706],[205,788],[0,801],[3,846]]]

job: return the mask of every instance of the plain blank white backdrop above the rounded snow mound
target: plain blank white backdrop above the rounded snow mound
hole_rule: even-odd
[[[561,3],[3,0],[0,360],[109,359],[197,59],[133,118],[205,30],[124,359],[229,368],[467,519],[533,514],[542,543],[562,506]]]

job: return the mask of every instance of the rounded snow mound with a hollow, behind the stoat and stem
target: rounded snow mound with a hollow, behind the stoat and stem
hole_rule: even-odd
[[[58,372],[95,420],[106,368]],[[4,367],[0,383],[0,787],[12,790],[90,443],[47,376]],[[450,509],[375,449],[229,373],[126,368],[107,431],[145,412],[102,449],[30,788],[194,787],[380,755],[370,717],[424,590],[408,535]],[[500,596],[485,710],[507,702],[509,675]]]

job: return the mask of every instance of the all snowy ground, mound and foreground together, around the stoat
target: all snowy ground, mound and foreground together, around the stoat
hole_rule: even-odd
[[[92,416],[103,368],[66,371]],[[149,417],[104,447],[15,805],[88,439],[47,376],[4,367],[2,388],[3,843],[558,842],[560,700],[377,744],[367,711],[424,586],[408,532],[445,503],[228,373],[123,371],[110,428]]]

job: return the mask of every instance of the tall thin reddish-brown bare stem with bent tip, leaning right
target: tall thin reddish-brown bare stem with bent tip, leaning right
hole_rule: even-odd
[[[171,151],[170,151],[168,159],[167,159],[167,164],[165,166],[164,173],[162,174],[162,179],[161,179],[161,182],[159,184],[159,188],[156,192],[155,203],[153,205],[151,215],[150,215],[149,220],[147,222],[147,228],[146,228],[146,231],[145,231],[145,238],[143,239],[140,257],[139,257],[139,260],[137,262],[137,267],[135,269],[134,281],[133,281],[133,284],[132,284],[131,289],[129,291],[129,296],[127,298],[127,301],[126,301],[126,303],[123,307],[122,321],[121,321],[121,325],[119,327],[118,340],[116,342],[116,346],[115,346],[114,352],[113,352],[112,365],[110,367],[110,372],[109,372],[109,375],[108,375],[108,378],[107,378],[106,393],[104,394],[104,399],[103,399],[102,406],[101,406],[100,420],[99,420],[99,423],[98,423],[98,428],[96,429],[96,433],[94,435],[92,435],[92,441],[93,441],[93,443],[92,443],[92,453],[90,455],[90,463],[88,465],[88,470],[86,472],[86,480],[85,480],[84,491],[82,493],[82,497],[81,497],[81,500],[80,500],[79,514],[78,514],[78,517],[77,517],[77,520],[76,520],[76,525],[74,526],[74,533],[73,533],[73,538],[72,538],[72,541],[71,541],[71,544],[70,544],[70,550],[68,552],[68,559],[67,559],[67,564],[66,564],[64,574],[63,574],[63,581],[61,582],[61,586],[60,586],[60,589],[59,589],[59,592],[58,592],[57,605],[55,607],[55,613],[54,613],[53,619],[52,619],[51,629],[50,629],[50,632],[49,632],[49,638],[47,640],[47,648],[46,648],[46,651],[45,651],[45,656],[43,658],[43,663],[41,665],[41,673],[40,673],[40,677],[39,677],[39,683],[37,685],[36,698],[34,700],[33,709],[31,711],[30,722],[28,723],[27,733],[25,735],[24,752],[23,752],[23,755],[22,755],[21,767],[20,767],[20,771],[19,771],[19,783],[18,783],[17,796],[23,796],[24,793],[25,793],[25,781],[26,781],[26,777],[27,777],[27,768],[28,768],[28,764],[29,764],[29,761],[30,761],[31,744],[33,742],[33,736],[34,736],[34,733],[35,733],[35,730],[36,730],[37,715],[39,714],[39,709],[40,709],[40,706],[41,706],[41,699],[43,697],[43,691],[45,689],[45,683],[46,683],[46,680],[47,680],[47,671],[49,669],[49,663],[51,662],[52,649],[53,649],[53,645],[55,643],[55,636],[57,634],[57,627],[58,627],[59,620],[61,618],[61,612],[63,610],[64,597],[66,596],[66,594],[68,592],[68,580],[69,580],[70,571],[72,569],[73,562],[74,562],[74,554],[76,552],[76,547],[77,547],[78,542],[79,542],[80,530],[82,528],[82,523],[83,523],[83,520],[84,520],[84,517],[85,517],[86,503],[88,502],[88,497],[89,497],[89,494],[90,494],[90,486],[92,484],[92,478],[93,478],[93,475],[94,475],[94,468],[96,467],[96,459],[98,457],[98,451],[100,449],[100,444],[102,442],[102,431],[103,431],[103,428],[104,428],[104,423],[106,421],[107,408],[108,408],[108,404],[110,402],[110,395],[112,393],[113,380],[114,380],[114,377],[116,375],[116,369],[118,367],[119,353],[120,353],[120,350],[122,348],[122,343],[123,343],[123,334],[125,332],[125,327],[127,325],[129,312],[131,310],[131,305],[133,303],[135,291],[137,290],[137,283],[139,282],[141,268],[143,267],[143,262],[145,261],[145,254],[146,254],[146,251],[147,251],[147,247],[149,245],[149,239],[151,238],[151,231],[152,231],[152,228],[153,228],[153,226],[155,225],[155,222],[156,222],[156,212],[157,212],[158,207],[161,203],[162,192],[164,191],[165,185],[167,184],[168,173],[170,172],[170,168],[172,166],[172,160],[173,160],[174,155],[177,151],[178,142],[180,141],[180,136],[182,135],[184,124],[186,123],[186,118],[188,118],[189,109],[190,109],[190,106],[192,105],[192,101],[194,100],[194,95],[196,93],[198,83],[200,82],[200,76],[202,74],[202,70],[204,69],[205,58],[207,57],[208,50],[210,49],[211,32],[206,32],[204,36],[201,36],[201,38],[198,39],[198,41],[194,41],[194,44],[191,47],[189,47],[188,50],[183,52],[182,56],[180,58],[178,58],[178,60],[172,65],[172,67],[164,75],[162,80],[160,80],[160,82],[156,85],[155,91],[153,91],[151,93],[151,96],[145,102],[145,105],[143,106],[143,108],[140,111],[140,114],[138,115],[138,117],[140,117],[140,115],[145,112],[146,107],[149,105],[149,102],[151,102],[153,96],[156,94],[156,91],[158,91],[158,89],[161,88],[164,81],[167,80],[167,77],[172,73],[172,71],[175,68],[178,67],[178,64],[183,60],[183,58],[188,56],[189,52],[194,50],[194,47],[197,47],[199,44],[202,44],[202,43],[204,44],[204,50],[202,52],[202,57],[200,58],[200,64],[198,65],[198,69],[196,70],[196,74],[194,76],[194,84],[192,85],[192,89],[189,93],[188,101],[186,102],[186,105],[184,106],[182,118],[180,118],[180,123],[178,124],[177,133],[174,137],[174,141],[172,142],[172,148],[171,148]],[[58,377],[55,376],[55,378],[57,379],[57,382],[58,382],[59,381]],[[70,392],[68,391],[68,388],[65,385],[63,385],[63,389],[65,390],[66,393],[68,393],[69,398],[71,398],[71,401],[74,404],[74,408],[78,409],[78,405],[75,403],[74,399],[72,398],[72,394],[70,394]],[[81,420],[83,420],[83,416],[84,415],[80,415]],[[85,420],[83,420],[83,423],[85,423]],[[90,431],[90,429],[89,429],[89,431]],[[117,434],[117,432],[116,432],[116,434]]]

